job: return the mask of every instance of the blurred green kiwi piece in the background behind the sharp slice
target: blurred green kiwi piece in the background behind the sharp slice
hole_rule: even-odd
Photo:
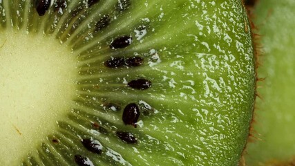
[[[247,165],[294,165],[294,8],[292,0],[260,0],[252,10],[263,52],[258,73],[264,80],[258,82],[256,139],[247,146]]]

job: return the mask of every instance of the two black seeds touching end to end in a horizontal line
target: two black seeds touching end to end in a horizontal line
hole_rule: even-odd
[[[137,67],[141,66],[144,62],[144,59],[139,56],[135,57],[114,57],[111,59],[108,59],[104,65],[108,68],[122,68],[124,66],[126,67]]]

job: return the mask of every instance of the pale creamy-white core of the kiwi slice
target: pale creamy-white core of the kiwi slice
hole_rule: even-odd
[[[57,39],[0,34],[0,163],[19,163],[56,131],[75,98],[76,63]]]

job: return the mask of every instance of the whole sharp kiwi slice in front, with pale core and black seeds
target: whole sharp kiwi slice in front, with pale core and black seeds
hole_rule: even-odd
[[[237,165],[241,1],[0,1],[1,165]]]

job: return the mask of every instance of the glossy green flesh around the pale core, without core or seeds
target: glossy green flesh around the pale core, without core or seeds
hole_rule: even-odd
[[[99,1],[77,17],[70,17],[68,11],[77,8],[79,1],[68,2],[62,15],[48,10],[43,17],[28,1],[0,3],[0,8],[6,3],[12,11],[6,13],[10,17],[1,15],[1,30],[25,28],[28,33],[55,35],[73,49],[79,61],[73,109],[39,149],[23,156],[22,165],[75,165],[76,154],[95,165],[238,164],[249,133],[256,80],[251,32],[242,3],[130,2],[126,10],[110,12],[117,1]],[[16,17],[16,10],[29,17]],[[106,14],[116,19],[93,35],[95,21]],[[139,39],[135,34],[142,25],[147,33]],[[111,50],[112,39],[122,35],[133,36],[131,46]],[[104,66],[111,57],[132,55],[144,57],[144,64],[117,69]],[[138,91],[125,85],[140,77],[151,80],[153,86]],[[145,104],[152,113],[140,116],[134,128],[124,125],[122,110],[102,107],[106,102],[122,108],[131,102]],[[93,123],[108,133],[97,131]],[[134,133],[137,144],[122,142],[115,131]],[[52,142],[53,138],[59,143]],[[102,154],[84,148],[83,138],[101,142]],[[6,158],[0,158],[1,163]]]

